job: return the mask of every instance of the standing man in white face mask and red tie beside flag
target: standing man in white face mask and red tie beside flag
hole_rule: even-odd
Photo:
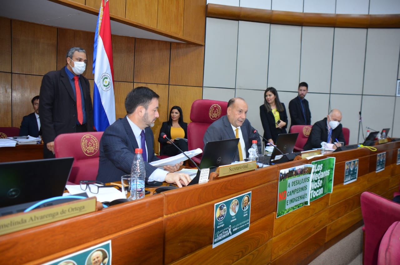
[[[57,135],[94,130],[90,84],[82,76],[86,62],[86,51],[73,47],[67,52],[65,67],[43,76],[39,108],[44,158],[54,157]]]

